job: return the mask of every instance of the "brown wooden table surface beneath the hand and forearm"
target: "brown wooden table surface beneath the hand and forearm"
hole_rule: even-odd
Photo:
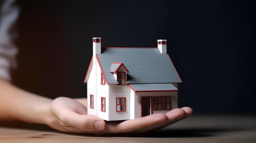
[[[93,136],[0,123],[0,143],[256,143],[256,115],[193,115],[156,132]]]

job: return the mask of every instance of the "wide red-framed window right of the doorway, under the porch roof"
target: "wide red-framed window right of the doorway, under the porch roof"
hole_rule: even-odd
[[[171,96],[153,97],[154,110],[170,110]]]

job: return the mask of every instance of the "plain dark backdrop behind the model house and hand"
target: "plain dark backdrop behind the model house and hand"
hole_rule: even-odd
[[[183,83],[179,107],[256,113],[255,2],[20,0],[13,83],[50,98],[85,97],[92,37],[102,46],[167,39]],[[160,69],[159,69],[160,70]]]

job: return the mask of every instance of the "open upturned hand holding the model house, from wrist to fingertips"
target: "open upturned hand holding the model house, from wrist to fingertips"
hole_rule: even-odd
[[[190,116],[193,110],[189,107],[176,108],[165,114],[151,114],[123,122],[110,121],[87,114],[87,99],[70,99],[58,97],[52,102],[51,110],[56,120],[49,126],[63,132],[85,134],[137,133],[158,130]]]

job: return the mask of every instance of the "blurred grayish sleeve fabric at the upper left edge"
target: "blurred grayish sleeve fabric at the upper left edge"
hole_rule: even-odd
[[[18,18],[19,7],[16,0],[0,1],[0,78],[11,80],[10,69],[16,68],[16,54],[18,49],[13,44],[17,33],[14,24]]]

